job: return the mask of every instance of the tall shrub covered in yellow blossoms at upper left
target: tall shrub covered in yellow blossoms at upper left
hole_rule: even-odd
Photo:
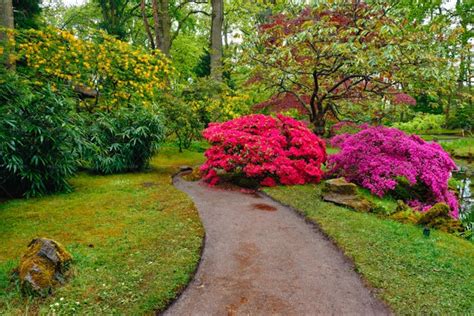
[[[150,53],[103,32],[83,40],[52,28],[24,30],[16,34],[16,54],[36,84],[66,83],[97,95],[81,103],[89,109],[151,104],[172,71],[159,50]]]

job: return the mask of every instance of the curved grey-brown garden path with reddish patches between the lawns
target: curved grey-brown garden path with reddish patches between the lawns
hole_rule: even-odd
[[[384,315],[348,260],[292,210],[257,194],[175,178],[194,200],[206,246],[165,315]]]

